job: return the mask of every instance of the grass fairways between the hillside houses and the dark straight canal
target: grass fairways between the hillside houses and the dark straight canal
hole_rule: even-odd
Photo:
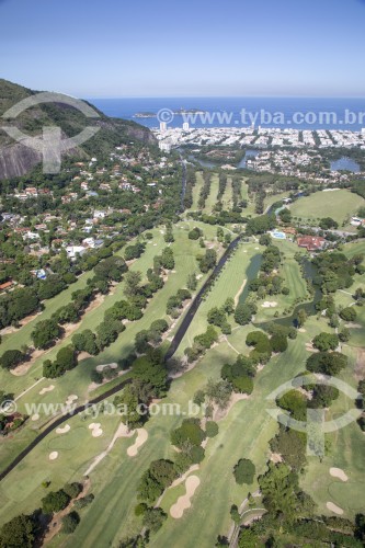
[[[195,225],[195,224],[194,224]],[[52,403],[66,401],[68,396],[78,396],[78,403],[81,403],[88,399],[89,392],[88,387],[90,385],[90,373],[99,364],[109,364],[116,362],[117,359],[126,356],[134,346],[134,339],[138,331],[142,329],[148,329],[150,323],[159,318],[166,318],[166,306],[169,297],[176,293],[180,287],[183,287],[186,283],[187,275],[194,271],[197,271],[196,254],[201,252],[201,248],[196,241],[187,239],[187,231],[194,226],[192,222],[180,224],[174,230],[175,242],[172,244],[175,258],[175,272],[171,272],[168,281],[166,282],[163,288],[158,292],[151,301],[148,304],[144,317],[137,322],[132,322],[127,326],[127,329],[121,333],[118,339],[105,349],[98,356],[82,361],[78,367],[68,372],[64,377],[58,379],[44,379],[36,386],[31,388],[39,378],[42,378],[42,366],[45,358],[53,359],[60,347],[70,344],[71,336],[68,336],[60,341],[55,347],[53,347],[46,355],[38,358],[34,365],[28,369],[26,375],[14,376],[11,373],[0,370],[0,383],[4,389],[19,396],[24,390],[31,388],[19,401],[19,410],[24,412],[25,403]],[[212,240],[215,238],[216,228],[210,226],[204,226],[205,237]],[[130,270],[140,270],[146,273],[147,269],[151,266],[152,259],[156,254],[160,253],[161,249],[166,247],[163,241],[163,235],[160,230],[153,231],[153,240],[151,243],[147,244],[146,252],[137,260]],[[203,283],[205,276],[201,279]],[[113,306],[116,300],[124,298],[123,294],[123,282],[116,286],[116,290],[113,295],[109,295],[102,305],[95,310],[88,313],[81,326],[72,335],[82,331],[83,329],[94,330],[99,323],[102,321],[104,311]],[[178,323],[179,324],[179,323]],[[178,324],[174,329],[178,328]],[[24,328],[22,328],[24,329]],[[21,330],[22,331],[22,330]],[[20,331],[20,333],[21,333]],[[171,331],[171,335],[174,330]],[[44,396],[39,395],[39,390],[44,387],[54,385],[55,389]],[[1,468],[5,467],[12,458],[19,453],[20,448],[25,446],[30,439],[32,439],[39,431],[42,425],[45,423],[45,418],[41,413],[38,421],[32,422],[26,427],[22,429],[14,436],[14,439],[4,439],[0,445],[0,458]]]

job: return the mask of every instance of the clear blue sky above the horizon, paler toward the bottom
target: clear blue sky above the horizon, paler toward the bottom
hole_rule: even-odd
[[[0,77],[77,96],[365,96],[364,0],[0,0]]]

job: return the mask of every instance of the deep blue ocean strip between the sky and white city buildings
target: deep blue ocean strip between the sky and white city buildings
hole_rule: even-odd
[[[109,116],[134,119],[153,128],[169,127],[280,127],[295,129],[350,129],[365,127],[365,99],[326,98],[150,98],[88,99]],[[203,114],[176,114],[179,110]],[[157,114],[162,111],[160,121]],[[155,117],[135,117],[148,112]],[[172,118],[172,119],[170,119]]]

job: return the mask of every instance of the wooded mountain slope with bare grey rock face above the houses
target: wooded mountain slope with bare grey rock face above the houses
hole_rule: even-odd
[[[21,145],[3,130],[3,125],[14,125],[27,135],[42,135],[42,127],[58,126],[62,137],[79,134],[85,125],[84,116],[62,103],[36,105],[24,111],[15,121],[2,118],[2,114],[22,99],[35,94],[21,85],[0,79],[0,180],[21,176],[42,161],[42,155],[24,145]],[[107,153],[116,146],[130,140],[139,140],[148,145],[157,142],[152,133],[135,122],[119,118],[110,118],[93,107],[100,115],[92,125],[99,125],[99,133],[77,149],[66,152],[67,156],[90,158],[98,153]]]

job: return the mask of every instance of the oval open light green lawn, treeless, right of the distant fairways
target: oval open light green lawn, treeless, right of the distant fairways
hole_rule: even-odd
[[[310,196],[297,199],[290,205],[293,217],[301,220],[316,220],[332,217],[342,227],[349,225],[352,215],[364,206],[365,199],[350,191],[316,192]]]

